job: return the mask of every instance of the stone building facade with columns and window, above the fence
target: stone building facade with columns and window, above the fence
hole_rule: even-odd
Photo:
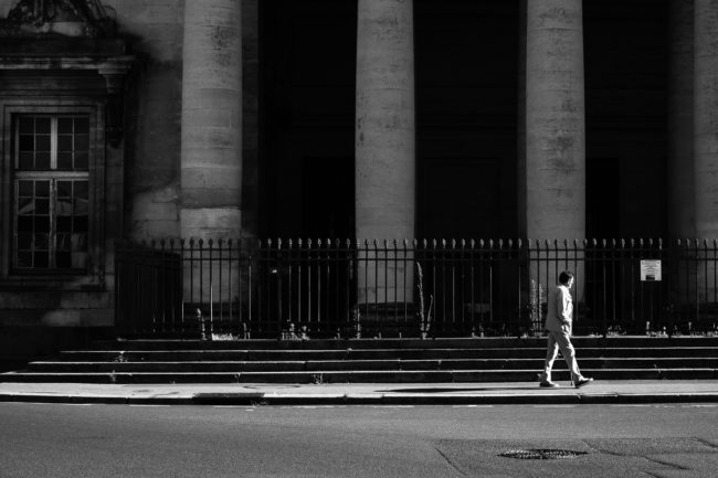
[[[716,237],[716,0],[0,0],[6,357],[154,237]]]

